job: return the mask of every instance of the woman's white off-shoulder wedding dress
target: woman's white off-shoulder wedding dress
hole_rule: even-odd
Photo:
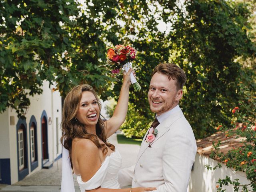
[[[98,188],[119,189],[118,171],[122,166],[122,158],[120,153],[116,150],[110,156],[106,156],[104,162],[98,171],[88,180],[83,182],[80,175],[77,176],[77,182],[80,186],[81,192],[85,190],[92,190]]]

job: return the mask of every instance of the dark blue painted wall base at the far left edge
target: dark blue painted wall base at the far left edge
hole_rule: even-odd
[[[10,159],[0,159],[0,169],[1,169],[1,184],[11,184],[11,166]]]

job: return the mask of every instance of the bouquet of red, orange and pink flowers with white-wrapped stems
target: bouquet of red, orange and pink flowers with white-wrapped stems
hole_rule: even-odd
[[[118,74],[123,68],[126,72],[132,67],[132,61],[135,59],[137,51],[131,46],[116,45],[108,50],[107,68],[113,74]],[[135,91],[141,90],[140,84],[131,73],[131,82]]]

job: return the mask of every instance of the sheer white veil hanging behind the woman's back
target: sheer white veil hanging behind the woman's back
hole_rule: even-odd
[[[62,179],[60,192],[75,192],[73,170],[70,164],[69,153],[64,146],[62,146]]]

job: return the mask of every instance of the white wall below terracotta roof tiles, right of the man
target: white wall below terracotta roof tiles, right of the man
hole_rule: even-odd
[[[218,162],[207,156],[196,154],[194,163],[194,170],[191,172],[190,182],[188,185],[188,192],[216,192],[216,182],[219,178],[224,179],[226,176],[230,176],[230,179],[234,181],[238,178],[241,184],[250,183],[246,179],[244,172],[233,172],[230,168],[227,168],[225,164],[222,164],[222,168],[216,170],[207,170],[204,165],[216,166]],[[226,192],[234,192],[232,187],[225,186]]]

